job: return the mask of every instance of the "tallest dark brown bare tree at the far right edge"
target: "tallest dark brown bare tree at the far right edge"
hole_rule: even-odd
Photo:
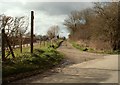
[[[102,35],[104,38],[109,40],[113,50],[118,49],[120,43],[119,28],[118,28],[118,3],[95,3],[95,12],[98,18],[101,20],[97,21],[102,25]],[[98,28],[100,26],[97,26]]]

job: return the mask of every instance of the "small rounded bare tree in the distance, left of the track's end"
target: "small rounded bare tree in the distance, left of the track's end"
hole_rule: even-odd
[[[53,25],[48,29],[47,35],[52,39],[58,35],[59,30],[60,30],[60,28],[58,25]]]

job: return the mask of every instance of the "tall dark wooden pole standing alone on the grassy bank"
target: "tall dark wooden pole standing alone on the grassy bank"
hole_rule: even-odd
[[[33,53],[34,11],[31,11],[31,53]]]

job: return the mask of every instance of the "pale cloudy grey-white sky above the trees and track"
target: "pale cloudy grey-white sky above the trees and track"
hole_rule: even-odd
[[[60,27],[60,36],[67,36],[69,31],[63,23],[70,12],[90,8],[93,6],[91,2],[96,0],[87,0],[91,2],[84,2],[83,0],[81,0],[81,2],[75,1],[76,0],[74,0],[74,2],[57,2],[57,0],[44,0],[44,2],[40,2],[38,0],[0,0],[0,14],[13,17],[27,16],[30,21],[30,12],[34,11],[35,34],[45,35],[50,26],[58,25]],[[30,26],[28,31],[29,30]]]

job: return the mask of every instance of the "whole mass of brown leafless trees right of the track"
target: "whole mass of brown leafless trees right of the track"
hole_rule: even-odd
[[[94,8],[73,11],[64,21],[74,40],[109,43],[112,50],[120,48],[118,3],[94,3]]]

